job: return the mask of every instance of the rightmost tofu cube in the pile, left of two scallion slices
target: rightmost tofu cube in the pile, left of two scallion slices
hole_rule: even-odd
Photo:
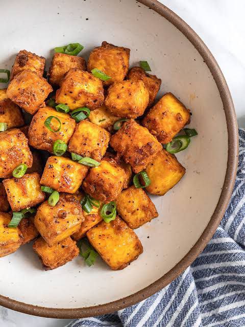
[[[166,93],[144,117],[142,125],[155,135],[160,143],[173,137],[190,122],[190,110],[173,94]]]

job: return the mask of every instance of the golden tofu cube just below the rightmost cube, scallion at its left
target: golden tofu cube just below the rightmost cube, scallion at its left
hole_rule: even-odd
[[[164,195],[185,174],[185,168],[179,163],[175,155],[164,149],[157,154],[145,171],[151,179],[151,184],[145,189],[155,195]]]

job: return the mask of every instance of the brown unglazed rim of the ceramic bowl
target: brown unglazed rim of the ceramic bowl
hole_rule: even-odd
[[[216,231],[220,221],[222,220],[224,213],[226,211],[227,205],[229,203],[231,193],[236,178],[237,162],[238,162],[238,126],[236,113],[231,98],[231,94],[226,83],[226,80],[220,70],[216,60],[213,55],[201,40],[201,38],[186,24],[186,22],[181,19],[177,14],[171,11],[169,8],[159,3],[157,0],[137,0],[139,3],[149,7],[154,10],[164,18],[166,18],[171,24],[173,24],[185,37],[192,43],[192,45],[197,49],[199,54],[203,57],[204,62],[206,62],[214,81],[217,85],[220,98],[222,99],[224,105],[224,111],[226,115],[227,130],[228,130],[228,162],[226,176],[220,194],[218,203],[214,210],[214,213],[203,231],[199,240],[193,245],[189,252],[184,256],[184,258],[176,264],[174,268],[169,270],[165,275],[155,281],[153,284],[145,287],[141,291],[129,295],[125,298],[106,303],[104,305],[92,306],[87,308],[76,308],[76,309],[57,309],[57,308],[45,308],[39,306],[33,306],[27,303],[16,301],[0,295],[0,305],[15,311],[22,313],[49,317],[49,318],[85,318],[91,316],[97,316],[101,314],[106,314],[109,312],[124,309],[126,307],[132,306],[137,302],[155,294],[170,282],[174,281],[198,256],[200,252],[203,251],[207,243],[212,238],[214,232]]]

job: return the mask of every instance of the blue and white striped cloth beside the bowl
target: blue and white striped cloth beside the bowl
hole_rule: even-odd
[[[239,130],[239,164],[229,206],[203,253],[148,299],[68,325],[84,326],[245,326],[245,130]]]

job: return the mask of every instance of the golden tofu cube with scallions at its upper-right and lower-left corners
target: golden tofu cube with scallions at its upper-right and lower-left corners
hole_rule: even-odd
[[[40,183],[58,192],[76,193],[88,167],[63,156],[47,159]]]

